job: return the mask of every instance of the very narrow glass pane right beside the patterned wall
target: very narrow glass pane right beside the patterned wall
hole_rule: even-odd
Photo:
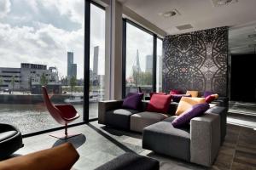
[[[156,41],[156,92],[162,92],[162,65],[163,65],[163,41]]]

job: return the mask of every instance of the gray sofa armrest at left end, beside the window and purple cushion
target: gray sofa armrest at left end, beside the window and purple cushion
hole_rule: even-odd
[[[98,122],[105,124],[105,114],[106,111],[119,109],[122,107],[123,100],[106,100],[99,101],[98,103]]]

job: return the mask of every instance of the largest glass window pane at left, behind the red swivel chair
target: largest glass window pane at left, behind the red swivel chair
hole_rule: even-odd
[[[4,4],[3,4],[4,3]],[[84,0],[3,1],[0,12],[0,122],[22,134],[60,127],[44,105],[74,105],[83,120]],[[3,10],[2,10],[3,9]],[[74,122],[72,122],[74,123]]]

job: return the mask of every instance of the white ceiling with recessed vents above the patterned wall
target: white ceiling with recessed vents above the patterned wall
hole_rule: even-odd
[[[212,0],[119,0],[167,34],[181,34],[219,26],[230,26],[230,52],[251,53],[256,44],[248,34],[256,34],[256,0],[238,0],[237,3],[214,7]],[[172,9],[180,15],[166,18],[160,15]],[[194,28],[179,31],[176,26],[190,24]]]

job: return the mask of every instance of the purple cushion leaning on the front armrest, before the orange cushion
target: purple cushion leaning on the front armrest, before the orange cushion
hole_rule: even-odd
[[[207,103],[193,105],[188,111],[184,111],[172,121],[173,127],[183,127],[189,124],[190,120],[195,116],[201,116],[210,108]]]

